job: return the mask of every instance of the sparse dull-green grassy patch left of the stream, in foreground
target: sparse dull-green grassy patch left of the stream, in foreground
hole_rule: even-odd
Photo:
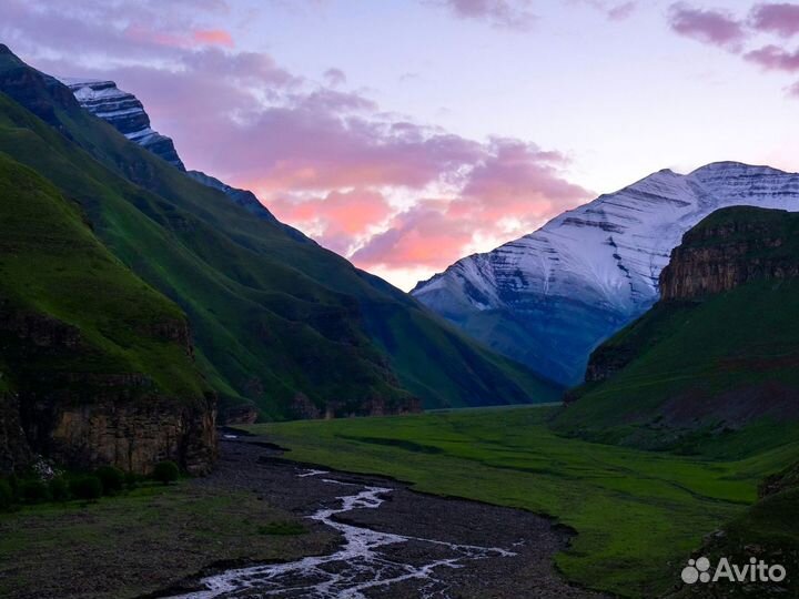
[[[252,490],[208,479],[146,485],[0,514],[0,597],[131,599],[210,565],[299,559],[335,540]]]

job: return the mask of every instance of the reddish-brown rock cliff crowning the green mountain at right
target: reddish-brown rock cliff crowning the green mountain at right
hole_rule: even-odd
[[[799,255],[783,251],[791,241],[783,227],[771,219],[751,220],[750,211],[738,213],[686,233],[660,275],[664,301],[697,300],[756,278],[799,276]]]

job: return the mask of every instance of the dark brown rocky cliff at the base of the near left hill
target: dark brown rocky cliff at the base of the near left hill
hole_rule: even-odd
[[[152,325],[150,334],[192,351],[185,323]],[[34,453],[74,468],[112,464],[148,474],[172,459],[191,474],[210,470],[212,395],[169,397],[143,374],[83,372],[97,351],[77,327],[1,302],[0,351],[14,388],[0,394],[0,473],[23,468]],[[61,366],[69,361],[74,372]]]

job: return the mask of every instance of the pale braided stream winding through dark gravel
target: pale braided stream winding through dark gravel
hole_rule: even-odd
[[[323,470],[305,470],[300,477],[323,476]],[[447,585],[436,578],[441,568],[462,568],[466,562],[515,554],[498,547],[457,545],[435,539],[377,532],[342,524],[335,516],[353,509],[376,509],[393,489],[342,483],[323,478],[330,485],[348,488],[336,498],[336,508],[322,508],[309,518],[338,530],[343,546],[334,554],[306,557],[287,564],[270,564],[227,570],[201,580],[205,590],[172,599],[213,599],[218,597],[303,597],[313,599],[365,599],[370,589],[388,587],[407,580],[421,583],[422,598],[447,598]],[[384,550],[397,544],[426,547],[422,555],[404,561],[391,559]],[[418,554],[418,552],[417,552]],[[429,554],[429,555],[427,555]],[[436,556],[436,557],[432,557]]]

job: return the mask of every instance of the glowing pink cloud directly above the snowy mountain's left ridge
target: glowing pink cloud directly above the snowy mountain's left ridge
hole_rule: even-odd
[[[558,167],[567,161],[558,153],[506,139],[493,140],[484,151],[455,195],[400,212],[353,261],[367,268],[439,270],[478,244],[493,247],[529,233],[594,195],[565,180]]]

